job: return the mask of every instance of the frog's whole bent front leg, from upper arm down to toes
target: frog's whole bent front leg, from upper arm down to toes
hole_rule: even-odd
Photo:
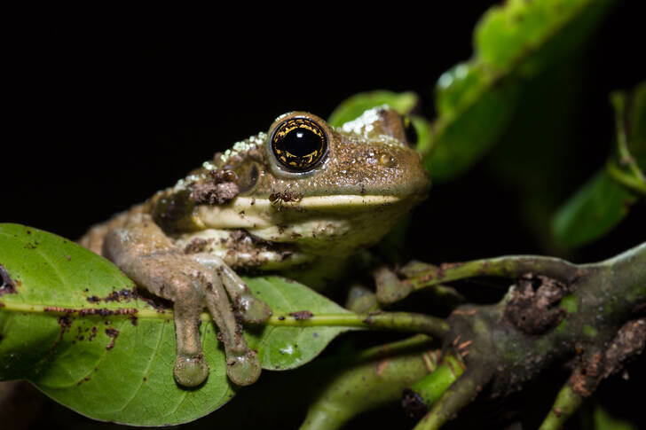
[[[199,332],[204,307],[217,324],[218,340],[225,345],[229,378],[238,385],[258,379],[261,367],[256,351],[248,348],[223,285],[243,320],[263,322],[271,310],[253,297],[225,262],[181,253],[147,214],[133,215],[122,228],[109,231],[103,254],[138,285],[174,302],[177,353],[173,373],[178,384],[195,387],[209,375]]]

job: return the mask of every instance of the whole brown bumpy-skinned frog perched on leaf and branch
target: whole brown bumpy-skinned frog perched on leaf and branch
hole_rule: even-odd
[[[200,341],[208,309],[224,344],[228,379],[259,378],[242,323],[272,309],[243,273],[297,273],[374,245],[429,192],[410,121],[389,106],[333,127],[291,112],[202,163],[177,184],[114,215],[79,240],[138,288],[172,301],[179,386],[209,376]]]

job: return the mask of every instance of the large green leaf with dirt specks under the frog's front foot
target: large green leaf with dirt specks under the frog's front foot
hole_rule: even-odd
[[[83,415],[138,426],[200,418],[238,389],[226,377],[225,354],[207,314],[201,341],[209,378],[196,389],[177,386],[172,311],[139,297],[102,257],[45,231],[0,224],[0,264],[0,379],[28,379]],[[284,279],[246,281],[275,313],[347,312]],[[267,326],[246,335],[264,368],[289,369],[345,330]]]

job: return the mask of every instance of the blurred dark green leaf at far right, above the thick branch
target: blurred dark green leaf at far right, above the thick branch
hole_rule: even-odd
[[[555,238],[570,247],[601,238],[626,216],[635,200],[603,169],[558,210],[552,223]]]

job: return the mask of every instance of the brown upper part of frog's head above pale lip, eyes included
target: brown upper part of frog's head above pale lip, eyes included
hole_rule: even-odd
[[[429,176],[411,147],[410,130],[389,106],[368,110],[336,129],[311,113],[286,113],[269,133],[256,137],[260,145],[245,141],[238,152],[234,146],[223,168],[235,172],[240,197],[292,193],[303,199],[420,199],[429,190]]]

